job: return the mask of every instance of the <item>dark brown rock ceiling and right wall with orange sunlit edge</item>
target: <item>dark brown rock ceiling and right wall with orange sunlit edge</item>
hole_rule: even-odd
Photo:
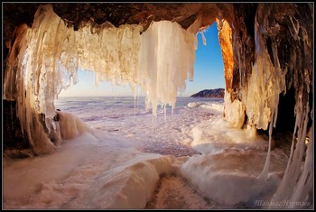
[[[3,4],[3,41],[5,44],[3,58],[5,60],[9,60],[7,58],[8,52],[20,35],[18,27],[22,23],[32,26],[33,15],[39,5],[42,4]],[[311,48],[313,22],[311,20],[313,18],[313,8],[311,4],[59,3],[52,4],[52,7],[54,12],[67,23],[68,27],[75,31],[87,22],[93,23],[95,28],[98,28],[101,23],[109,23],[116,27],[126,23],[139,23],[145,31],[150,23],[162,20],[177,22],[183,29],[188,29],[198,18],[200,18],[199,29],[203,29],[218,20],[218,29],[222,30],[219,31],[219,41],[222,48],[224,75],[229,95],[226,102],[231,103],[226,107],[231,115],[239,115],[237,117],[237,127],[241,128],[245,124],[250,124],[266,130],[266,121],[271,122],[272,119],[272,112],[270,111],[264,115],[265,125],[258,124],[259,121],[262,122],[263,118],[254,118],[250,115],[251,110],[248,106],[249,101],[252,101],[252,99],[247,99],[250,93],[248,90],[249,80],[254,76],[254,64],[260,58],[260,48],[265,49],[267,55],[269,55],[269,61],[267,62],[270,64],[271,83],[281,80],[275,77],[274,69],[277,69],[284,78],[284,85],[283,82],[280,82],[284,88],[275,91],[274,96],[267,94],[267,98],[273,98],[273,100],[270,100],[275,103],[278,102],[281,95],[281,101],[283,101],[282,95],[293,87],[295,104],[300,102],[300,106],[312,106],[313,66]],[[256,27],[258,28],[257,32]],[[224,34],[226,35],[224,36]],[[6,78],[5,69],[6,63],[3,65]],[[265,71],[265,69],[262,71]],[[16,101],[14,98],[10,100]],[[236,103],[234,103],[235,100]],[[5,104],[5,106],[13,105],[14,103]],[[271,103],[271,106],[273,105],[275,104]],[[274,107],[278,108],[274,108],[277,116],[277,110],[283,111],[286,104]],[[275,113],[275,111],[273,112]],[[286,112],[286,114],[291,115],[291,111]],[[309,114],[311,120],[311,112]],[[294,115],[294,111],[292,115]],[[287,124],[283,122],[283,116],[278,117],[277,125]],[[14,119],[13,122],[16,122],[13,115],[5,116],[5,120],[10,119]],[[5,140],[5,143],[14,139]]]

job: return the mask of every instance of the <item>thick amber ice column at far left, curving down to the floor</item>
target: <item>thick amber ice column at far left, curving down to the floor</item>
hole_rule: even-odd
[[[54,145],[44,133],[40,114],[54,114],[53,99],[62,88],[62,77],[73,75],[62,68],[76,67],[73,49],[67,48],[73,31],[46,5],[34,15],[33,28],[22,25],[16,36],[6,64],[5,73],[12,77],[5,78],[4,98],[17,101],[17,117],[33,152],[51,152]]]

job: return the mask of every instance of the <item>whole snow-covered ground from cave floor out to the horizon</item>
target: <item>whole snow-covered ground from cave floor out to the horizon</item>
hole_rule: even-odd
[[[92,133],[49,155],[5,158],[4,208],[261,208],[271,198],[288,146],[273,148],[260,178],[268,138],[230,128],[223,99],[178,97],[173,113],[159,107],[156,117],[134,100],[60,98],[56,108]]]

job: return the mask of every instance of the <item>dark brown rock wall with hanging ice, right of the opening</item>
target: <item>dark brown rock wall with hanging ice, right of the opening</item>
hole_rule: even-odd
[[[274,121],[274,127],[278,127],[279,130],[293,129],[293,119],[287,122],[288,118],[285,116],[295,116],[298,109],[291,111],[287,107],[294,108],[294,105],[312,107],[312,12],[311,4],[234,4],[235,18],[228,19],[232,28],[234,64],[232,87],[228,88],[227,85],[227,90],[230,103],[236,100],[245,106],[246,120],[243,120],[242,109],[230,111],[232,114],[239,115],[238,126],[250,124],[256,125],[258,129],[267,130],[267,123],[275,114],[274,119],[277,120],[277,124]],[[260,88],[255,85],[258,84],[256,79],[258,69],[259,72],[261,69],[262,78],[265,78]],[[225,74],[228,70],[225,69]],[[293,93],[287,94],[292,87],[295,90],[294,102]],[[274,92],[270,91],[271,88]],[[284,95],[286,97],[283,97]],[[263,98],[265,101],[262,100]],[[280,98],[290,105],[281,102],[278,106]],[[288,102],[288,99],[292,99],[291,102]],[[252,102],[256,104],[261,102],[262,108],[254,108]],[[229,104],[226,107],[229,107]],[[264,106],[265,104],[267,106]],[[230,107],[232,110],[237,108]],[[253,111],[256,115],[253,115]],[[277,115],[278,111],[281,111],[281,116]],[[311,125],[311,115],[309,119]],[[244,124],[241,124],[243,121]],[[283,126],[278,126],[280,124]]]

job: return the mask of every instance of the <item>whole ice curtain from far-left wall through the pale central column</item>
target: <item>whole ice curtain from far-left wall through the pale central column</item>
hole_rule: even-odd
[[[142,29],[88,23],[75,32],[51,5],[42,5],[33,27],[24,24],[17,30],[6,65],[4,98],[19,103],[17,116],[33,152],[54,148],[37,114],[55,115],[54,99],[78,81],[79,68],[96,72],[97,84],[109,80],[129,84],[134,92],[142,88],[153,115],[159,104],[175,105],[177,92],[193,78],[196,34],[166,21],[152,23],[141,34]]]

